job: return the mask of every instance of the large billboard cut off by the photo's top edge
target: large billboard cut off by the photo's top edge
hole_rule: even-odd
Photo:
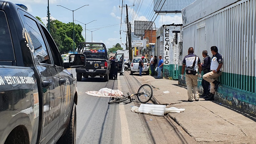
[[[181,13],[181,9],[195,1],[196,0],[154,0],[154,12]]]

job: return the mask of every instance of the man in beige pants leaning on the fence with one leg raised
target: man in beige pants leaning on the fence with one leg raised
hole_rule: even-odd
[[[218,48],[216,46],[211,47],[211,52],[213,54],[210,66],[211,72],[204,74],[203,76],[203,79],[211,83],[210,96],[208,98],[206,97],[205,100],[214,100],[215,90],[218,88],[218,85],[220,84],[220,82],[217,80],[218,77],[222,74],[222,55],[218,53]]]

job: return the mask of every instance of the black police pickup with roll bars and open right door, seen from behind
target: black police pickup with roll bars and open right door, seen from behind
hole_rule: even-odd
[[[111,65],[105,44],[82,42],[79,44],[78,52],[86,56],[86,66],[76,68],[78,81],[82,80],[82,76],[85,78],[88,78],[88,76],[104,76],[105,81],[109,80]],[[124,67],[123,53],[115,56],[119,63],[118,72],[121,72]]]

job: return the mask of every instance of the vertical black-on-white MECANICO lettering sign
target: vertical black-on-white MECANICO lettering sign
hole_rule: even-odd
[[[169,28],[164,29],[164,49],[163,49],[163,60],[164,64],[168,65],[170,63],[169,60],[169,49],[170,49],[170,43],[169,43],[169,37],[170,37],[170,32]]]

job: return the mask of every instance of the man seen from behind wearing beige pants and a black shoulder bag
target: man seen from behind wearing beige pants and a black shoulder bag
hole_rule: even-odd
[[[197,88],[197,77],[201,78],[201,60],[198,56],[194,54],[194,48],[190,47],[188,49],[188,55],[184,57],[182,61],[181,79],[183,80],[183,74],[186,67],[186,85],[187,85],[187,96],[188,101],[193,101],[192,97],[192,87],[193,93],[195,95],[195,100],[199,101],[198,88]],[[199,70],[198,70],[199,69]],[[197,72],[199,71],[199,75]]]

